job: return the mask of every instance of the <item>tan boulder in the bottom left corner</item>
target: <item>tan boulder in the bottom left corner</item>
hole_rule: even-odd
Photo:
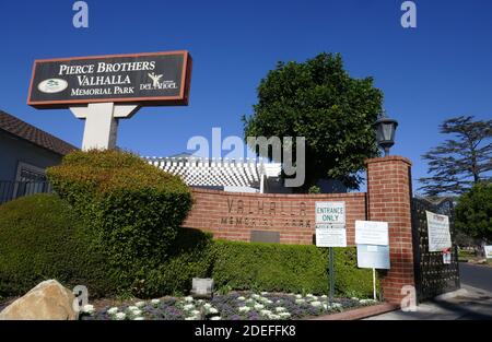
[[[56,280],[36,285],[0,312],[0,320],[74,320],[73,293]]]

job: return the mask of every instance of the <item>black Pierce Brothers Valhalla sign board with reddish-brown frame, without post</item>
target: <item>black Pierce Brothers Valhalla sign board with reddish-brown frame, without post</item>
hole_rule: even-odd
[[[188,51],[35,60],[27,104],[68,108],[93,103],[187,105]]]

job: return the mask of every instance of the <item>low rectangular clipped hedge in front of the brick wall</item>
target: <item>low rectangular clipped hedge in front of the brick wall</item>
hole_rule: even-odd
[[[219,288],[328,293],[326,249],[306,245],[214,243],[213,279]],[[355,248],[335,250],[339,295],[370,296],[372,273],[356,268]]]

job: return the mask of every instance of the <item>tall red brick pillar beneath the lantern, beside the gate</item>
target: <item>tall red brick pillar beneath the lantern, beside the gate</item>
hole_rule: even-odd
[[[385,300],[400,304],[401,287],[414,286],[411,162],[401,156],[367,160],[367,217],[388,222],[390,270],[379,271]]]

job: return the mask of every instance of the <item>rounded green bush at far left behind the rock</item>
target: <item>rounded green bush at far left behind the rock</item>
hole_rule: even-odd
[[[54,194],[35,194],[0,205],[0,295],[23,295],[56,279],[90,296],[110,295],[104,257],[91,249],[81,220]]]

